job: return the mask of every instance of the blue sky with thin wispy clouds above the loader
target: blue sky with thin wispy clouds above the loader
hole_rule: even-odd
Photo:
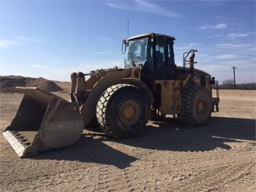
[[[175,63],[197,49],[196,68],[220,84],[255,79],[255,1],[3,1],[1,75],[70,81],[70,74],[124,63],[122,39],[176,38]],[[122,66],[121,66],[122,67]]]

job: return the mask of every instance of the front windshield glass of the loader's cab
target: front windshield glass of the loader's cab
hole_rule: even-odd
[[[146,60],[148,37],[138,38],[129,41],[125,68],[139,67]]]

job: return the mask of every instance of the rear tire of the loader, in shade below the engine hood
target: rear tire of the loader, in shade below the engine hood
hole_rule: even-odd
[[[193,85],[182,92],[182,124],[188,126],[205,125],[212,113],[210,92],[203,86]]]

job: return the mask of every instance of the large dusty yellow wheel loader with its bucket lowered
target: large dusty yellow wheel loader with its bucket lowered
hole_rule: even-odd
[[[95,122],[118,139],[135,137],[149,118],[166,115],[189,127],[205,125],[219,111],[218,81],[194,68],[197,50],[183,53],[177,66],[174,40],[155,33],[123,40],[124,68],[72,73],[69,101],[37,87],[17,87],[24,97],[4,137],[25,157],[69,146]]]

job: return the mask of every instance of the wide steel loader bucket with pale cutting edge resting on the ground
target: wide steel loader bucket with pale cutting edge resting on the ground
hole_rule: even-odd
[[[37,87],[17,89],[25,95],[3,135],[20,157],[69,146],[81,137],[83,118],[76,102]]]

